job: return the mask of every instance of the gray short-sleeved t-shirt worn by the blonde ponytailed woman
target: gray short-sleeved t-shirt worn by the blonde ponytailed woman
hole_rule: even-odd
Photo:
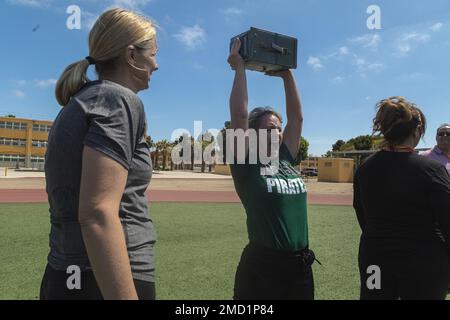
[[[139,97],[112,81],[88,82],[59,112],[45,155],[51,217],[48,262],[54,269],[65,271],[70,265],[90,269],[78,223],[82,152],[89,146],[128,170],[118,214],[133,278],[154,282],[156,233],[145,194],[152,162],[145,130]]]

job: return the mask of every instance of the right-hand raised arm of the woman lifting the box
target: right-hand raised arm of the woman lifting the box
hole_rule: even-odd
[[[283,143],[295,159],[297,157],[303,127],[303,111],[295,78],[291,70],[269,72],[267,75],[278,76],[283,79],[287,116],[287,123],[283,132]]]

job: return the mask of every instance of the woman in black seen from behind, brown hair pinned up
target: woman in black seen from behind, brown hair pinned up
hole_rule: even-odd
[[[445,299],[450,177],[444,166],[414,152],[425,134],[425,116],[393,97],[378,103],[373,124],[384,136],[384,148],[363,162],[354,178],[362,230],[361,299]]]

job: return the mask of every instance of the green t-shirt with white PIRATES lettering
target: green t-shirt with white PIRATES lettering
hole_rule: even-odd
[[[249,240],[279,250],[308,246],[306,187],[293,167],[294,159],[281,144],[278,173],[261,171],[258,164],[233,164],[231,175],[247,213]]]

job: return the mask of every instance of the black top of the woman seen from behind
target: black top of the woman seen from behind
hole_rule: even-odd
[[[356,171],[354,208],[361,240],[380,250],[450,254],[450,178],[415,153],[380,151]]]

